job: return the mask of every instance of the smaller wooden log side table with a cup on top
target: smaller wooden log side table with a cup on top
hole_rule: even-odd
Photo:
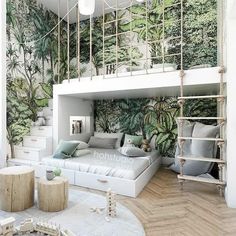
[[[38,207],[42,211],[57,212],[68,205],[68,180],[55,177],[53,180],[40,178],[38,182]]]

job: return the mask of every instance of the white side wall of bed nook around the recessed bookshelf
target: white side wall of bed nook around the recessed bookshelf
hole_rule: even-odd
[[[53,147],[55,150],[60,139],[71,139],[70,116],[93,117],[93,101],[70,96],[58,96],[55,93],[53,98]],[[91,123],[91,132],[93,132],[93,120]]]

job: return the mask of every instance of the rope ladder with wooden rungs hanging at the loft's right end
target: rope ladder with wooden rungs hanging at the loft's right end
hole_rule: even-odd
[[[178,104],[180,106],[180,117],[177,118],[179,123],[178,131],[178,143],[180,147],[180,155],[178,159],[180,161],[180,174],[178,175],[178,180],[181,184],[181,189],[183,188],[183,183],[185,180],[196,181],[202,183],[215,184],[220,192],[220,195],[224,194],[224,187],[226,185],[224,178],[224,170],[226,165],[225,159],[225,100],[226,96],[224,95],[224,1],[221,1],[221,20],[220,20],[220,81],[219,81],[219,94],[217,95],[204,95],[204,96],[184,96],[184,70],[183,70],[183,0],[181,0],[181,70],[180,70],[180,96],[178,97]],[[216,99],[219,104],[219,112],[217,117],[184,117],[184,104],[186,100],[193,99]],[[183,135],[183,126],[185,120],[216,120],[218,125],[220,125],[220,135],[219,138],[194,138],[194,137],[184,137]],[[201,156],[184,156],[184,145],[186,140],[201,140],[201,141],[212,141],[216,142],[219,147],[220,154],[219,158],[207,158]],[[217,163],[219,170],[219,179],[204,178],[199,176],[190,176],[184,175],[184,164],[187,160],[191,161],[206,161],[211,163]]]

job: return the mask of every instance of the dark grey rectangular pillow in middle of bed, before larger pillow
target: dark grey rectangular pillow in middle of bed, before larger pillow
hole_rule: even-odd
[[[106,148],[114,149],[116,146],[117,138],[97,138],[92,136],[88,142],[91,148]]]

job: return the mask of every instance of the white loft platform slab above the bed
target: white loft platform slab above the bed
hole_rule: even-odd
[[[185,95],[211,95],[219,90],[219,67],[186,70],[184,76]],[[143,71],[145,73],[146,71]],[[81,99],[121,99],[155,96],[178,96],[180,71],[141,74],[142,71],[121,73],[119,77],[93,76],[64,80],[54,85],[54,97],[74,96]],[[224,81],[226,82],[226,81]]]

